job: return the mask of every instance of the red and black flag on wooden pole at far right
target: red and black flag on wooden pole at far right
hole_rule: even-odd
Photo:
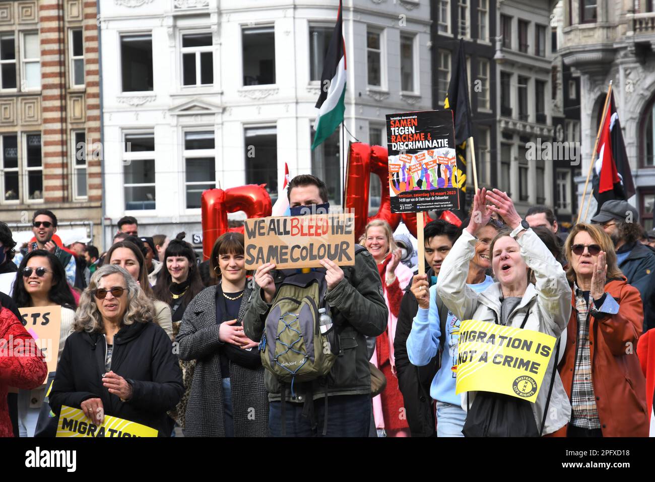
[[[635,194],[632,172],[627,162],[626,144],[623,141],[621,124],[614,103],[614,92],[610,92],[610,101],[605,114],[601,136],[598,140],[598,157],[593,166],[593,197],[598,203],[595,214],[610,199],[627,201]],[[594,214],[594,215],[595,215]]]

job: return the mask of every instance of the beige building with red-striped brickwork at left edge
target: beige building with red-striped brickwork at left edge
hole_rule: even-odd
[[[96,2],[0,2],[0,216],[28,230],[35,209],[60,229],[102,228]]]

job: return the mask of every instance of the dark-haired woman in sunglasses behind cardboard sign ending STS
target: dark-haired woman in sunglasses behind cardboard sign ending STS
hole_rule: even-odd
[[[64,267],[57,256],[37,249],[24,256],[18,267],[12,298],[18,308],[62,307],[57,359],[62,356],[66,338],[73,332],[75,299],[66,282]],[[43,405],[46,387],[18,391],[18,429],[21,437],[33,437]]]

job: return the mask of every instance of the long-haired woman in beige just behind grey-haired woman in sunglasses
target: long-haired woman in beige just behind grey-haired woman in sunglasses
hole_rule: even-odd
[[[138,241],[141,241],[140,239]],[[148,281],[148,272],[145,269],[145,258],[143,251],[135,243],[130,241],[119,241],[114,243],[107,254],[105,260],[108,264],[115,264],[124,268],[134,281],[139,283],[139,286],[145,293],[145,296],[155,305],[155,318],[154,321],[164,329],[166,334],[173,339],[173,323],[171,319],[170,307],[157,299],[153,289],[150,287]]]

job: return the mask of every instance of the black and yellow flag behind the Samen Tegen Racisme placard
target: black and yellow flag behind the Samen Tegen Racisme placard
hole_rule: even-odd
[[[471,106],[468,98],[468,74],[466,73],[466,56],[464,55],[464,40],[459,41],[459,52],[453,75],[448,84],[445,109],[453,110],[455,120],[455,152],[457,165],[453,168],[453,186],[459,188],[459,211],[468,215],[466,210],[466,142],[473,136],[471,126]]]

